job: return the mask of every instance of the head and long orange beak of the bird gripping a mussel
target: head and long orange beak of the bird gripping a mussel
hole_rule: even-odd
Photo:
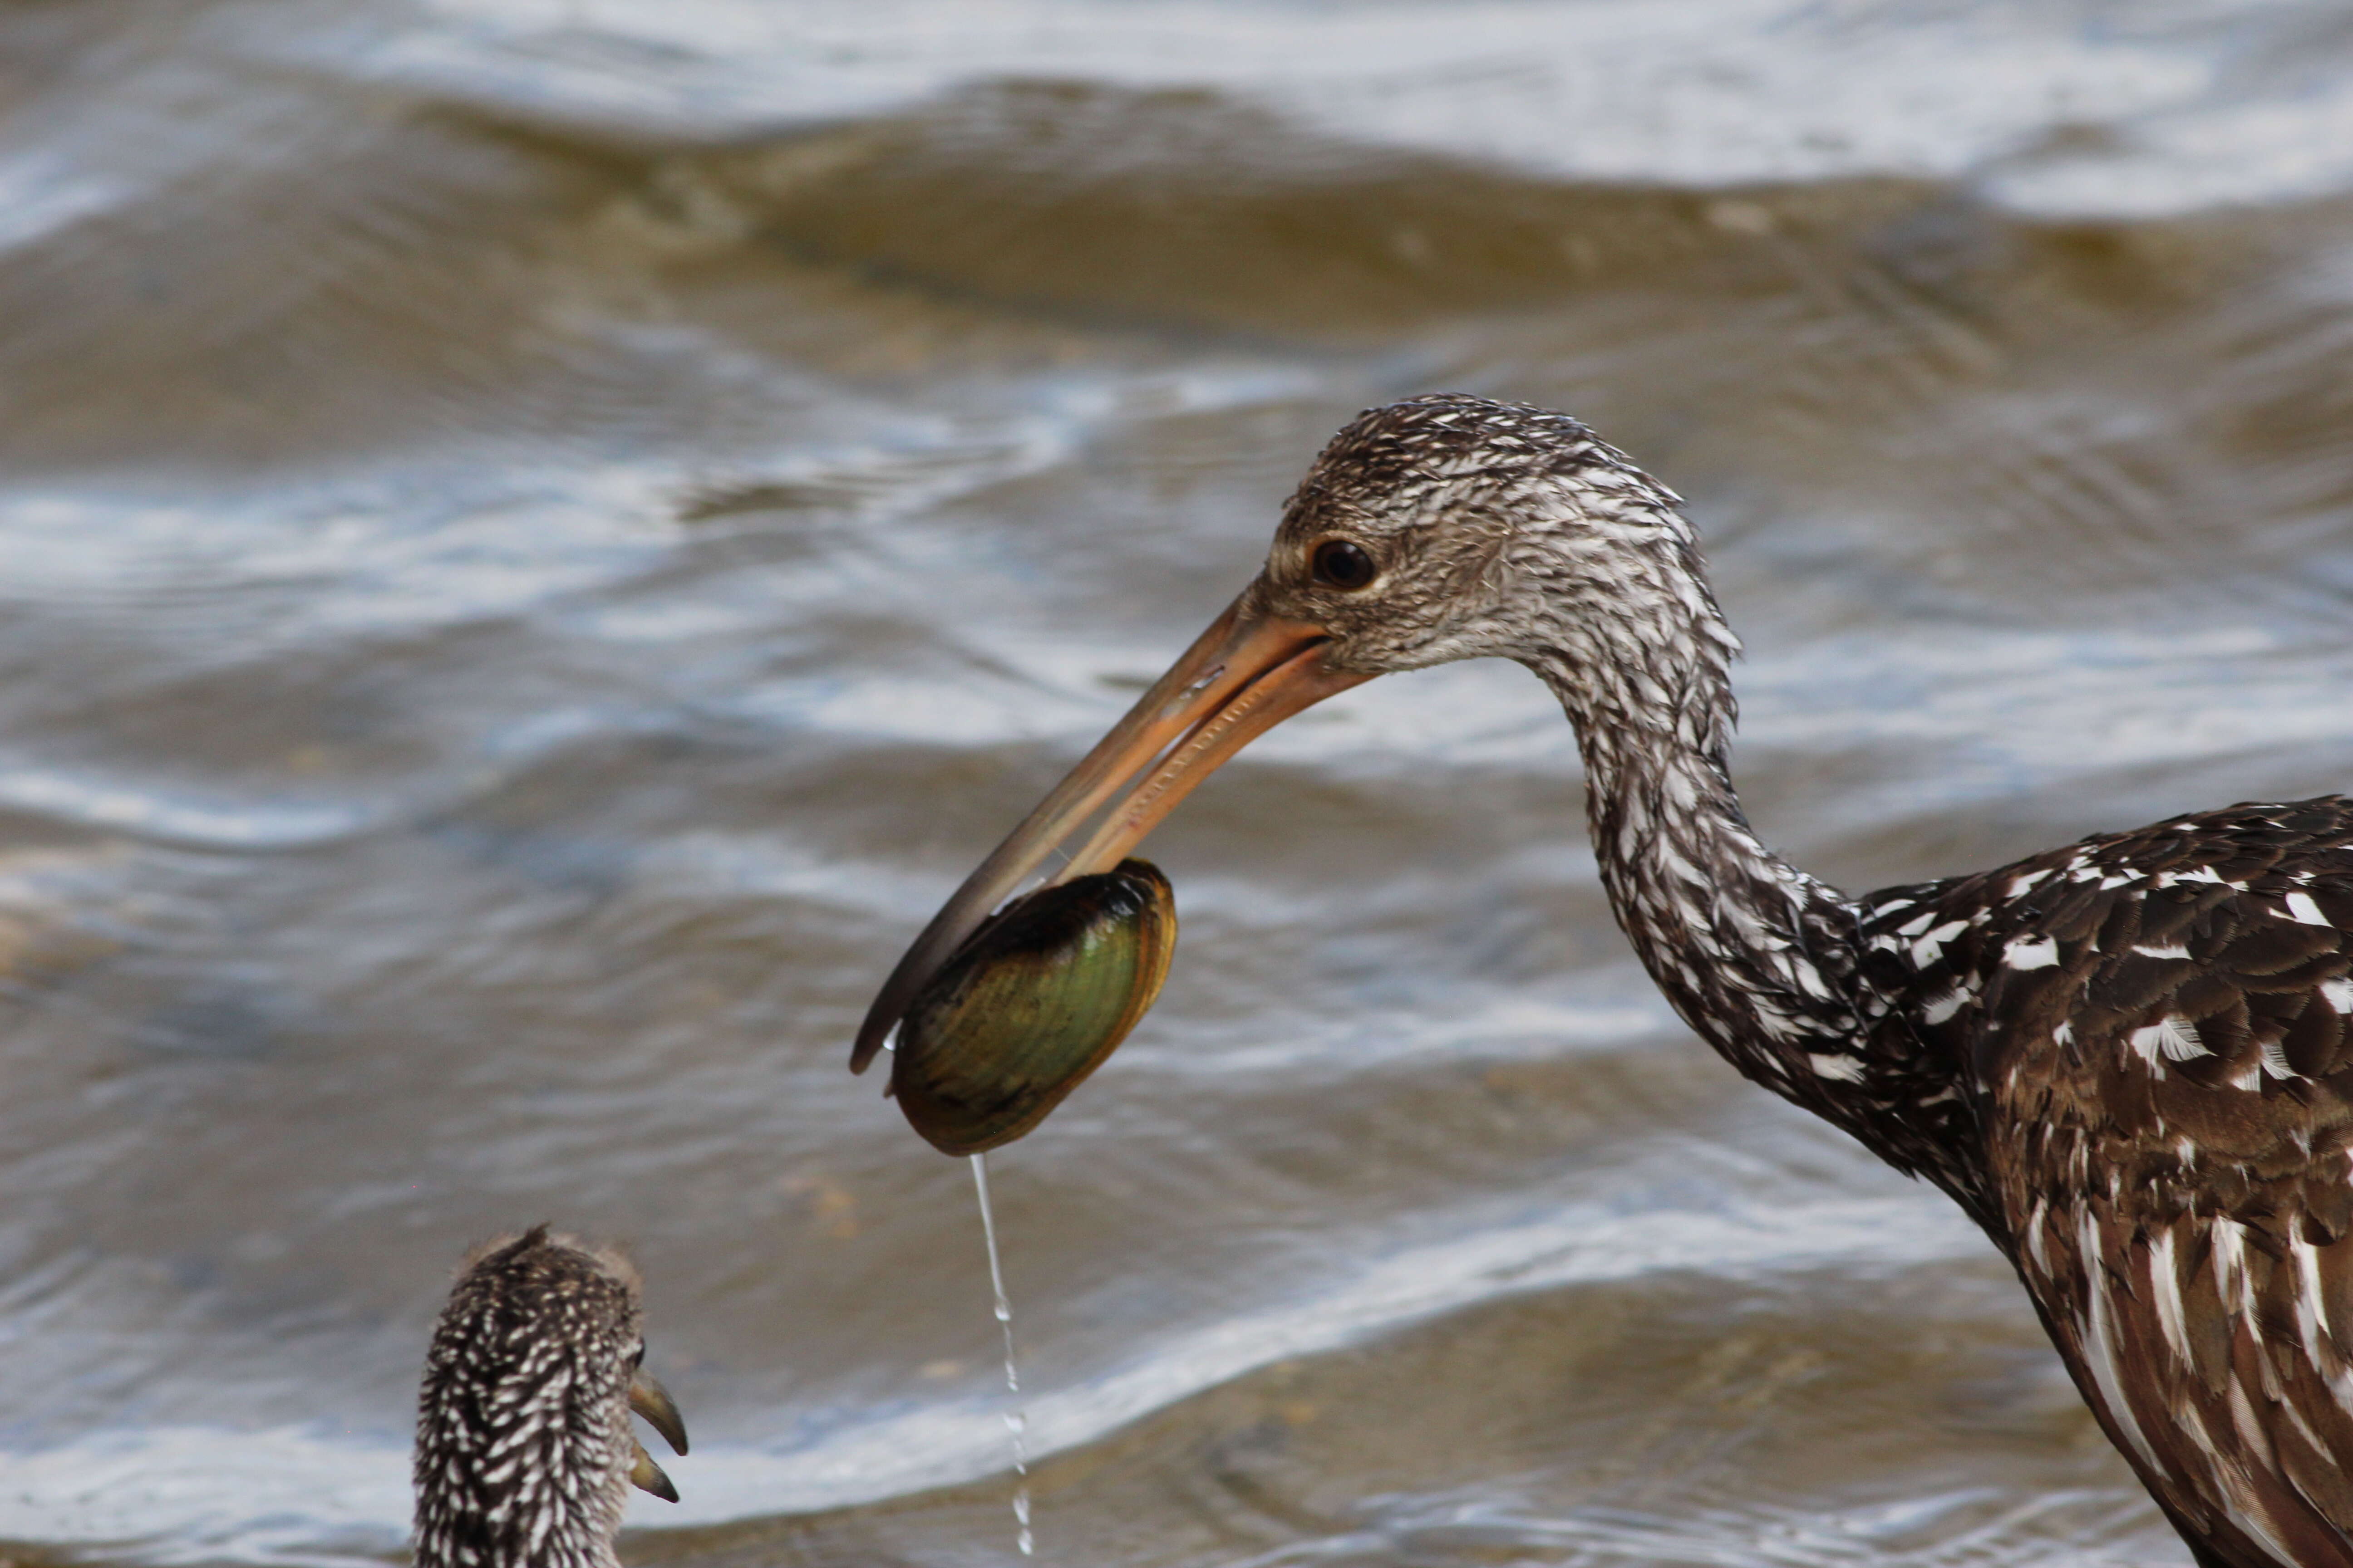
[[[1567,414],[1459,395],[1360,414],[1308,468],[1249,588],[915,938],[852,1067],[1049,856],[1068,856],[1054,882],[1115,867],[1221,762],[1337,691],[1480,656],[1569,682],[1657,665],[1673,686],[1694,649],[1720,668],[1729,632],[1675,508]]]

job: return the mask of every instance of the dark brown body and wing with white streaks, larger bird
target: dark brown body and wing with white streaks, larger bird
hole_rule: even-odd
[[[2233,1568],[2353,1568],[2348,846],[2341,799],[2233,806],[1915,891],[1951,936],[1878,943],[1889,1027],[1972,1088],[1979,1218]]]

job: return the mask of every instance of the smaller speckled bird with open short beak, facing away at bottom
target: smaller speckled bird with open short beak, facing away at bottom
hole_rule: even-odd
[[[621,1253],[546,1225],[468,1253],[416,1396],[416,1568],[614,1568],[628,1488],[678,1502],[631,1410],[687,1450],[642,1359]]]

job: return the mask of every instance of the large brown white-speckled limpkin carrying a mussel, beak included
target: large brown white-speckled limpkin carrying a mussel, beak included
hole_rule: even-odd
[[[1574,418],[1362,414],[1259,578],[918,938],[852,1065],[1099,809],[1056,879],[1334,691],[1515,658],[1577,726],[1602,884],[1685,1023],[1993,1237],[2200,1563],[2353,1568],[2353,802],[1849,898],[1741,813],[1737,651],[1678,496]]]

